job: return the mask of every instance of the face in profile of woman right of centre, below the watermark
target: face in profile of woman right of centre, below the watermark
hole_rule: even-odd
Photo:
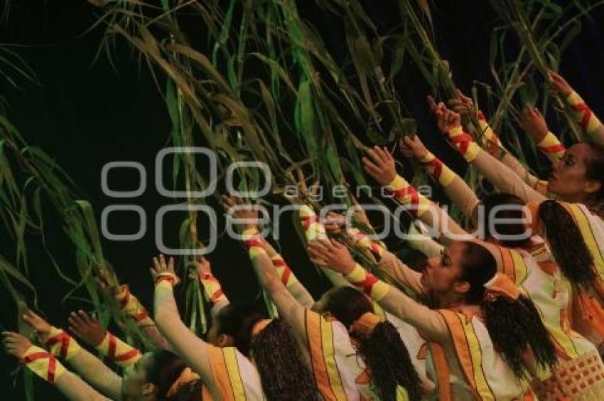
[[[421,273],[421,284],[434,294],[467,292],[468,282],[459,281],[465,247],[464,242],[453,242],[443,249],[440,256],[429,258]]]

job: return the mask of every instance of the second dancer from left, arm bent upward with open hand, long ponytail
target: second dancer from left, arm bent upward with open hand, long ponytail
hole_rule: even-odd
[[[220,400],[318,400],[311,372],[288,327],[247,306],[227,305],[215,315],[210,345],[180,320],[173,258],[153,258],[155,321],[159,331]],[[264,392],[263,392],[264,390]]]

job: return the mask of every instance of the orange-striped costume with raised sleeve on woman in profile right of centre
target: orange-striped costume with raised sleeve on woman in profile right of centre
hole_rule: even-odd
[[[418,328],[428,340],[419,351],[419,357],[426,358],[428,378],[437,383],[431,399],[513,400],[529,391],[527,383],[518,383],[495,351],[478,316],[429,309],[380,282],[358,265],[346,278],[353,284],[363,282],[364,285],[358,285],[372,294],[372,299],[389,313]],[[375,286],[377,288],[373,288]],[[409,287],[414,284],[409,283]]]

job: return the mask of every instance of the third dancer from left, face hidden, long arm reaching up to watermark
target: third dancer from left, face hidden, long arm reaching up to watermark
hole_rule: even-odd
[[[235,205],[226,197],[225,203],[227,207]],[[252,208],[237,208],[234,215],[248,222],[257,220],[257,211]],[[326,400],[419,399],[419,380],[399,333],[374,314],[365,296],[355,290],[334,289],[313,307],[326,306],[322,311],[332,312],[332,319],[326,319],[306,309],[286,291],[271,262],[269,248],[258,236],[256,223],[249,223],[243,236],[259,280],[280,316],[308,344],[315,379]],[[359,347],[356,350],[353,339]],[[397,353],[391,350],[390,355],[384,354],[385,348],[378,348],[377,343],[390,344]]]

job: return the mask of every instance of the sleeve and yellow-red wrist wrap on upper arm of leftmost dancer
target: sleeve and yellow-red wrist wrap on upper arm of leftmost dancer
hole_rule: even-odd
[[[52,328],[46,342],[50,353],[66,360],[75,373],[107,397],[119,400],[122,390],[122,378],[109,369],[102,360],[92,355],[60,328]]]

